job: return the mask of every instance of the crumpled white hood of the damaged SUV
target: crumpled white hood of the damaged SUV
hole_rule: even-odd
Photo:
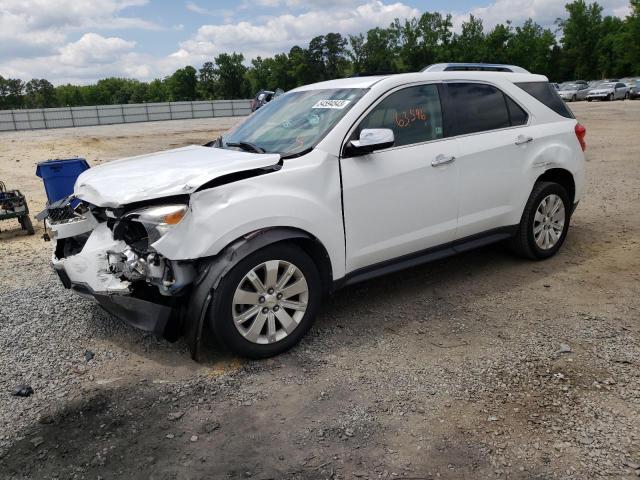
[[[77,179],[76,197],[99,207],[189,194],[215,178],[269,167],[278,154],[257,154],[221,148],[188,147],[123,158],[84,171]]]

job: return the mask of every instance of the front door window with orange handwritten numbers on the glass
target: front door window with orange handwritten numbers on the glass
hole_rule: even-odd
[[[365,128],[390,128],[395,136],[394,146],[442,138],[438,87],[420,85],[392,93],[362,120],[354,138],[358,138]]]

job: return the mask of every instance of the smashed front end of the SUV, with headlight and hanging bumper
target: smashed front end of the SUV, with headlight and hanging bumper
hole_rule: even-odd
[[[46,222],[64,286],[137,328],[175,337],[196,268],[162,256],[153,244],[182,220],[186,200],[123,208],[63,203],[48,208]]]

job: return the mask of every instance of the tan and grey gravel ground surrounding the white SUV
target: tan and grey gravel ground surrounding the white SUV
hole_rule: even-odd
[[[572,108],[589,177],[559,255],[493,246],[347,288],[267,361],[194,363],[64,290],[37,235],[0,233],[0,478],[637,478],[640,102]],[[37,211],[39,160],[234,121],[2,134],[0,178]]]

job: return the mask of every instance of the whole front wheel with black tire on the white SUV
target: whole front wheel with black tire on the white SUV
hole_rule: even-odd
[[[233,353],[253,359],[296,345],[315,319],[322,283],[304,250],[276,243],[242,259],[215,290],[208,320]]]

